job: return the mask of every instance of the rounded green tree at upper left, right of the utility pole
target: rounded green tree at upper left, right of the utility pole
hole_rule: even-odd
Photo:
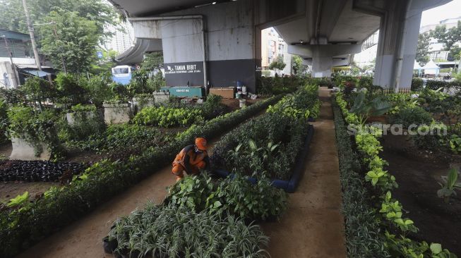
[[[50,25],[40,27],[42,48],[55,68],[83,73],[96,58],[100,31],[95,21],[78,16],[77,12],[56,8],[44,18]]]

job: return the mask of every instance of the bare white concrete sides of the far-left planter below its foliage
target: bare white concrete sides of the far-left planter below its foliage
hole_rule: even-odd
[[[21,138],[11,138],[13,151],[11,152],[10,159],[21,160],[49,160],[51,153],[48,152],[48,146],[42,143],[42,153],[40,156],[35,156],[34,147]]]

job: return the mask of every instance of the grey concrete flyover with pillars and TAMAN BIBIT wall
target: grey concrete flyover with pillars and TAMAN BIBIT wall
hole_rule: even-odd
[[[380,30],[374,83],[411,85],[421,12],[451,0],[109,0],[134,27],[137,44],[120,56],[141,61],[163,51],[168,86],[234,86],[256,91],[261,76],[261,30],[275,30],[290,54],[303,57],[314,77],[347,65]]]

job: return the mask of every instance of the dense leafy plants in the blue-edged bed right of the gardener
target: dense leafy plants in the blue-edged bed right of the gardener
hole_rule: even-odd
[[[265,171],[270,178],[288,180],[297,154],[304,146],[308,126],[306,119],[266,113],[224,135],[215,145],[212,166],[246,176]],[[275,145],[278,147],[273,149]]]

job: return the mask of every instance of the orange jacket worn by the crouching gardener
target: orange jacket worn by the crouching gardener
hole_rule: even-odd
[[[210,166],[210,159],[208,158],[207,151],[198,151],[196,152],[196,145],[188,145],[181,149],[181,152],[176,155],[176,158],[173,161],[174,164],[181,164],[186,170],[186,173],[192,173],[196,170],[196,165],[200,163],[200,161],[205,162],[205,168]],[[195,168],[195,169],[194,169]]]

